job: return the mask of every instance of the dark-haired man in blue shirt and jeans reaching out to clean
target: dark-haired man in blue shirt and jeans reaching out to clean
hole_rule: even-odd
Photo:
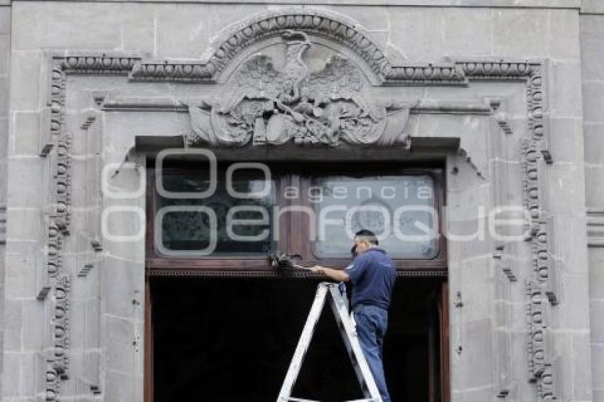
[[[390,402],[382,363],[382,346],[397,272],[370,230],[363,229],[355,234],[355,251],[356,258],[345,269],[313,266],[311,271],[323,273],[335,281],[352,283],[350,310],[355,317],[358,339],[382,401]]]

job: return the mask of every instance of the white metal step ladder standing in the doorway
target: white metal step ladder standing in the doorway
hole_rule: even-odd
[[[340,293],[337,283],[322,282],[317,287],[317,293],[315,295],[315,301],[311,307],[311,312],[308,313],[306,324],[302,330],[302,335],[298,341],[296,352],[293,354],[289,369],[285,376],[281,391],[277,397],[277,402],[317,402],[311,401],[310,399],[293,398],[291,391],[293,385],[296,384],[298,374],[308,352],[308,347],[313,339],[315,327],[323,311],[325,305],[325,299],[329,298],[331,310],[335,316],[335,321],[338,323],[338,329],[340,335],[344,340],[350,362],[355,369],[357,379],[363,391],[365,398],[357,399],[349,402],[382,402],[382,398],[379,396],[379,391],[375,385],[373,375],[365,359],[365,354],[361,349],[359,339],[357,338],[357,331],[355,330],[355,320],[348,313],[348,302],[347,299]]]

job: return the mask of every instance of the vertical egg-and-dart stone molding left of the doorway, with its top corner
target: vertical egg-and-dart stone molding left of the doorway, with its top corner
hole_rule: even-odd
[[[50,100],[48,102],[49,132],[45,152],[51,156],[50,171],[52,190],[50,194],[50,216],[47,229],[45,281],[40,284],[38,300],[48,299],[52,303],[50,322],[52,325],[50,352],[46,357],[45,392],[46,401],[58,401],[60,381],[69,378],[70,372],[70,288],[71,273],[63,266],[63,237],[70,235],[71,208],[71,141],[72,134],[65,130],[64,113],[66,79],[75,75],[126,75],[140,58],[124,55],[55,55],[51,59]],[[87,116],[82,129],[94,124],[96,115]],[[50,150],[55,149],[55,153]],[[95,250],[101,249],[100,244]],[[85,277],[92,268],[85,264],[80,277]],[[50,298],[48,298],[50,295]],[[98,381],[97,381],[98,382]],[[94,387],[98,387],[95,384]],[[91,391],[95,389],[91,386]]]

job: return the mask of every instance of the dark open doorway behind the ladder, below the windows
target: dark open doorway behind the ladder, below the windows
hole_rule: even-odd
[[[441,402],[442,278],[399,278],[384,366],[392,401]],[[153,401],[274,401],[318,281],[152,277]],[[293,396],[362,397],[329,308]]]

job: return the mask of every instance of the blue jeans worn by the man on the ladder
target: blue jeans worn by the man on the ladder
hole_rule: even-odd
[[[382,347],[388,327],[388,311],[374,305],[359,305],[355,306],[353,312],[359,343],[379,394],[382,396],[383,402],[390,402],[384,376],[384,364],[382,364]]]

